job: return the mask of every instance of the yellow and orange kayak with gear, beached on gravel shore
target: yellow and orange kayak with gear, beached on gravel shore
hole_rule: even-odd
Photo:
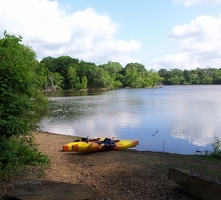
[[[136,147],[138,140],[113,140],[110,138],[96,138],[76,140],[74,142],[63,145],[63,151],[75,152],[94,152],[94,151],[108,151],[121,150]]]

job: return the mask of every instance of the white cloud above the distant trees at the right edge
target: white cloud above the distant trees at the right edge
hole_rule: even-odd
[[[179,44],[178,52],[153,60],[156,63],[154,68],[221,66],[221,15],[199,16],[189,24],[177,25],[171,31],[170,39]]]

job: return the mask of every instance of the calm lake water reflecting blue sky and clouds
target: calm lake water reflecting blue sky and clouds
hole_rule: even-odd
[[[138,139],[137,150],[194,154],[221,138],[221,86],[47,94],[42,131]],[[69,142],[69,141],[67,141]]]

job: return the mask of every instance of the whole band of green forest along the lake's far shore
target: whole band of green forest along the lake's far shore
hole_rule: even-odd
[[[43,90],[85,90],[116,88],[153,88],[162,85],[210,85],[221,83],[221,69],[153,69],[128,63],[123,67],[109,61],[102,65],[79,61],[70,56],[46,57],[40,63]]]

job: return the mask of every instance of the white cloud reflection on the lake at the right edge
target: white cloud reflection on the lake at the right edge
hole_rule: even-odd
[[[174,97],[176,106],[170,113],[173,120],[169,133],[193,145],[207,146],[213,142],[214,135],[221,136],[220,86],[195,86],[191,89]]]

